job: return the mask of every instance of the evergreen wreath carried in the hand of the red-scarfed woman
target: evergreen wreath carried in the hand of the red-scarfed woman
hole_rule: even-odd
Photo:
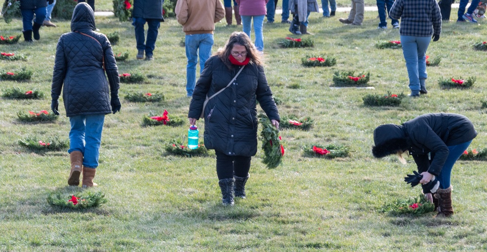
[[[262,125],[260,139],[262,141],[262,150],[264,151],[264,163],[267,168],[276,168],[282,161],[284,155],[284,146],[281,145],[279,131],[272,125],[267,116],[259,115],[259,122]]]

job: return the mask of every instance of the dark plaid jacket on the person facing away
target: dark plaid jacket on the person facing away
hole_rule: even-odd
[[[440,7],[436,0],[395,0],[389,16],[401,19],[399,34],[429,37],[441,33]]]

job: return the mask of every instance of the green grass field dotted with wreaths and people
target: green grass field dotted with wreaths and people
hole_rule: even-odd
[[[102,1],[100,1],[102,2]],[[101,9],[101,7],[100,7]],[[452,10],[455,13],[456,10]],[[103,33],[118,31],[115,53],[130,57],[118,62],[120,73],[141,73],[142,84],[121,84],[122,109],[107,115],[100,150],[100,165],[89,189],[106,194],[108,202],[82,211],[47,204],[53,192],[75,193],[67,186],[66,151],[32,152],[19,146],[27,136],[68,138],[69,120],[62,99],[61,116],[54,123],[22,123],[19,111],[50,111],[50,88],[56,42],[70,31],[69,21],[56,20],[58,28],[41,28],[41,39],[0,45],[1,52],[16,53],[27,61],[0,60],[0,72],[26,67],[30,81],[0,81],[8,88],[37,89],[40,100],[0,98],[0,251],[486,251],[487,178],[485,163],[458,161],[453,168],[453,208],[448,219],[393,216],[381,208],[396,199],[420,194],[403,177],[416,167],[411,157],[402,165],[393,157],[374,159],[370,153],[373,129],[384,123],[400,124],[425,113],[448,112],[468,116],[479,135],[472,148],[486,148],[485,52],[472,44],[485,40],[486,23],[444,23],[438,42],[428,55],[442,57],[429,67],[429,94],[405,98],[399,107],[363,106],[367,94],[409,93],[402,51],[379,50],[375,44],[398,40],[398,30],[376,30],[377,13],[368,12],[361,27],[344,26],[338,18],[313,13],[308,31],[313,48],[282,49],[278,42],[291,36],[280,23],[264,27],[266,75],[281,116],[311,116],[310,131],[282,130],[286,154],[283,164],[269,170],[253,158],[247,199],[234,207],[221,206],[215,156],[185,158],[166,155],[164,147],[182,140],[188,124],[180,127],[142,127],[149,113],[187,116],[184,38],[175,19],[161,23],[154,61],[136,60],[134,28],[113,17],[97,17]],[[21,20],[0,22],[0,35],[21,34]],[[217,23],[214,52],[241,26]],[[306,55],[334,57],[330,68],[305,68]],[[370,72],[374,90],[331,89],[335,71]],[[477,77],[470,89],[441,89],[438,79]],[[160,92],[159,103],[133,103],[123,99],[133,92]],[[260,109],[260,108],[259,108]],[[198,121],[200,134],[204,125]],[[351,148],[351,156],[322,159],[303,156],[310,144],[337,143]],[[260,143],[259,143],[260,146]]]

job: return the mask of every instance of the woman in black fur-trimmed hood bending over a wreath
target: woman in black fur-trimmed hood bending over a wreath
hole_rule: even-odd
[[[372,154],[384,157],[409,151],[418,166],[419,183],[439,215],[453,214],[450,175],[453,165],[477,136],[472,122],[458,114],[418,116],[403,125],[384,124],[374,130]],[[439,181],[439,189],[436,182]],[[407,181],[407,180],[405,180]],[[434,188],[434,190],[431,190]],[[431,193],[429,193],[431,192]]]

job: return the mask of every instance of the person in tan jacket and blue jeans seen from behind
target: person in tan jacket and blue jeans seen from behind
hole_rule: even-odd
[[[220,0],[178,0],[175,13],[186,34],[186,92],[188,97],[193,97],[198,54],[201,74],[206,60],[212,55],[214,23],[225,17],[225,9]]]

